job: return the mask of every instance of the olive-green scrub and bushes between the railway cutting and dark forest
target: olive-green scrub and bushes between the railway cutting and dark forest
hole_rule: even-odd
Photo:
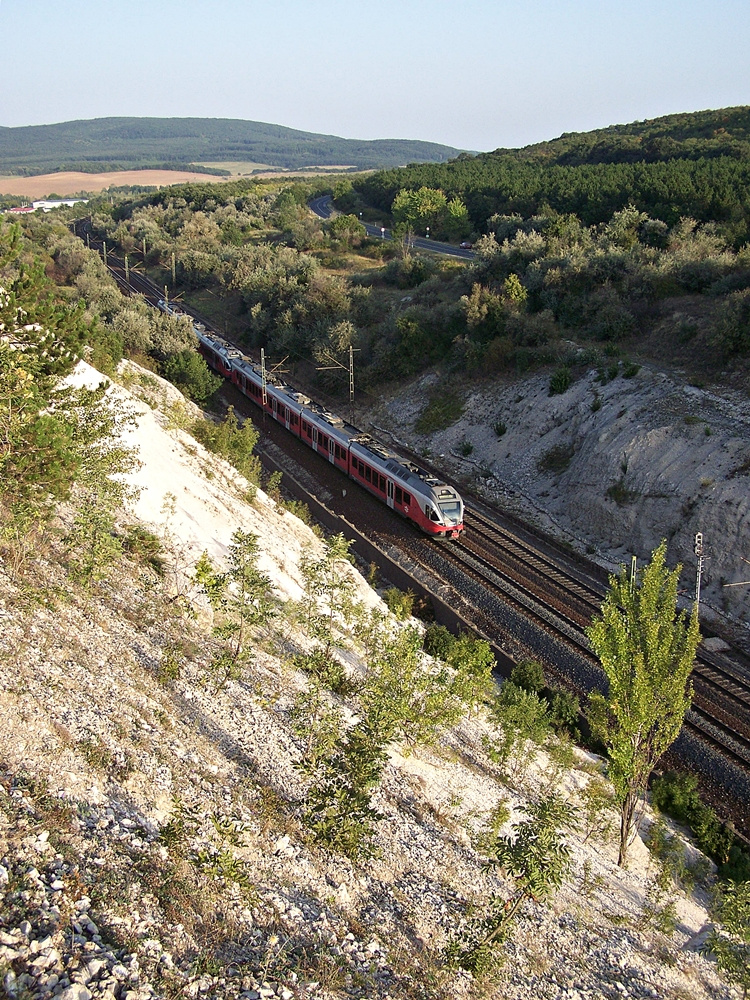
[[[93,221],[132,260],[145,239],[160,284],[174,255],[174,293],[247,348],[309,364],[353,345],[360,386],[436,364],[470,375],[553,364],[574,379],[642,352],[702,379],[744,378],[750,259],[716,223],[669,225],[632,206],[596,225],[497,214],[467,265],[367,239],[356,212],[314,218],[307,201],[324,183],[169,188],[94,203]],[[347,184],[339,202],[356,197]]]

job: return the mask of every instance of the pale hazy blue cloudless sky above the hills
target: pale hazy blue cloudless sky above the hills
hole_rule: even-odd
[[[245,118],[521,146],[750,104],[748,0],[0,0],[0,125]]]

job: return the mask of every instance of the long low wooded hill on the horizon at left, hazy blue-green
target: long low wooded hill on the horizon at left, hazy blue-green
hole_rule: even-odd
[[[416,139],[342,139],[231,118],[95,118],[0,127],[0,173],[26,176],[60,170],[183,169],[231,161],[291,170],[341,164],[378,169],[442,163],[460,152]]]

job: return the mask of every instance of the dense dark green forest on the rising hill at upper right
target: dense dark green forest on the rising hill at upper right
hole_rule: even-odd
[[[362,178],[356,190],[389,211],[404,189],[443,191],[466,205],[477,233],[493,215],[574,214],[606,223],[633,205],[675,225],[683,216],[720,223],[735,247],[750,226],[750,108],[670,115],[563,135],[520,150],[462,155]]]

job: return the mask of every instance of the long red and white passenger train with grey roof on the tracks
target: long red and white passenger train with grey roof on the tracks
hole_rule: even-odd
[[[169,308],[164,302],[159,306]],[[201,324],[194,328],[208,364],[291,434],[426,534],[453,539],[461,535],[464,504],[452,486],[268,373],[264,400],[260,366]]]

